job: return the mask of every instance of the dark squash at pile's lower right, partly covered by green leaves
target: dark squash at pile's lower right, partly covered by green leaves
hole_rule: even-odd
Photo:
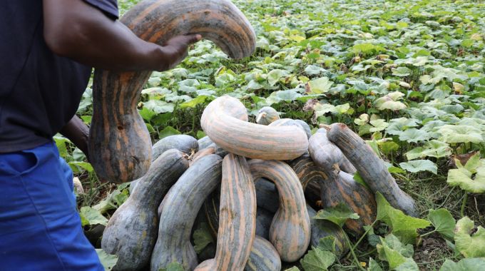
[[[318,247],[320,239],[333,236],[335,237],[335,252],[337,256],[340,258],[344,257],[349,252],[349,246],[345,242],[344,230],[329,220],[313,219],[317,215],[317,212],[310,205],[307,205],[307,210],[312,224],[312,237],[310,239],[312,247]]]

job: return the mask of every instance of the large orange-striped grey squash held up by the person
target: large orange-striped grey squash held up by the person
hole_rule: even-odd
[[[141,39],[155,44],[180,34],[202,34],[230,57],[250,56],[255,32],[228,0],[146,0],[120,19]],[[151,162],[148,130],[137,111],[150,71],[96,69],[89,153],[101,179],[124,183],[143,176]]]

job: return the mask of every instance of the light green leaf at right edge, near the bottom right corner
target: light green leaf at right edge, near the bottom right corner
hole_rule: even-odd
[[[475,228],[475,223],[470,218],[458,220],[454,240],[456,249],[465,257],[485,257],[485,228]]]

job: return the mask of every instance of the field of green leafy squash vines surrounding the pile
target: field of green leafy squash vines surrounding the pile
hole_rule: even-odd
[[[137,2],[119,0],[121,14]],[[233,3],[255,29],[255,53],[233,60],[203,40],[179,66],[153,72],[138,103],[153,143],[176,134],[203,138],[203,110],[224,95],[244,103],[250,122],[271,106],[281,118],[305,121],[312,133],[345,123],[416,201],[418,218],[376,196],[376,220],[361,235],[346,231],[347,254],[337,256],[327,238],[282,270],[485,270],[485,3]],[[78,108],[87,124],[91,93],[88,86]],[[79,180],[86,236],[100,248],[129,184],[101,182],[72,143],[61,136],[56,143]],[[363,183],[359,174],[354,179]],[[356,218],[342,206],[315,216],[344,230]],[[194,227],[196,252],[215,245],[208,225]],[[98,252],[113,267],[116,257]]]

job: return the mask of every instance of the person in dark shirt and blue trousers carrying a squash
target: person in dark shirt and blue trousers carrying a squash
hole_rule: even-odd
[[[52,137],[88,156],[75,113],[92,67],[165,71],[201,37],[138,39],[116,0],[1,1],[0,35],[0,270],[103,270]]]

